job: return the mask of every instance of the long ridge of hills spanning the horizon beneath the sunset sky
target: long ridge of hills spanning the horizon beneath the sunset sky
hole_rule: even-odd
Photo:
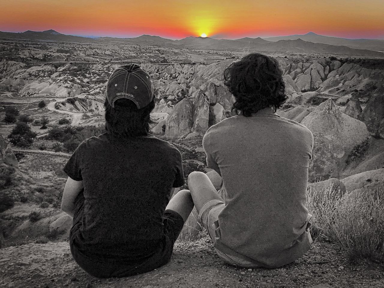
[[[298,35],[300,36],[300,35]],[[335,54],[335,55],[351,55],[351,56],[371,56],[384,57],[384,40],[349,40],[344,43],[343,38],[335,38],[317,35],[313,32],[307,33],[305,37],[297,38],[296,35],[286,36],[296,39],[281,39],[267,38],[275,41],[265,40],[263,38],[244,37],[236,40],[229,39],[214,39],[210,37],[194,37],[189,36],[180,40],[171,40],[160,36],[141,35],[134,38],[114,38],[114,37],[98,37],[87,38],[82,36],[72,36],[61,34],[55,30],[45,31],[25,31],[22,33],[1,32],[0,39],[22,39],[22,40],[45,40],[45,41],[66,41],[66,42],[88,42],[88,43],[124,43],[132,45],[172,45],[180,48],[189,47],[197,49],[224,49],[224,50],[258,50],[262,52],[284,52],[284,53],[320,53],[320,54]],[[316,37],[323,37],[320,43],[314,43]],[[307,39],[308,38],[308,39]],[[321,39],[323,39],[321,38]],[[331,40],[329,40],[330,38]],[[336,43],[332,39],[340,39]],[[312,41],[310,41],[312,40]],[[328,41],[329,40],[329,41]],[[348,39],[347,39],[348,40]],[[352,42],[350,42],[352,41]],[[356,42],[357,41],[357,42]],[[327,42],[327,43],[325,43]],[[334,44],[329,44],[329,43]],[[346,45],[344,45],[344,44]],[[352,44],[351,44],[352,43]],[[362,43],[360,46],[359,43]],[[353,47],[352,47],[353,46]],[[359,48],[360,47],[360,48]],[[368,48],[371,48],[369,50]],[[376,49],[376,50],[375,50]]]

